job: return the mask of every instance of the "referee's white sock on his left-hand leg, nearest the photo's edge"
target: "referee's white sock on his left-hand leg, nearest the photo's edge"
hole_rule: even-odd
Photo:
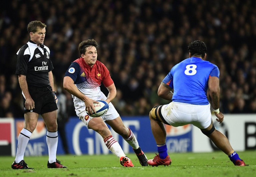
[[[23,128],[18,137],[18,146],[17,146],[17,153],[15,157],[15,162],[20,163],[20,161],[24,160],[24,154],[26,147],[28,145],[28,141],[32,133],[27,129]]]

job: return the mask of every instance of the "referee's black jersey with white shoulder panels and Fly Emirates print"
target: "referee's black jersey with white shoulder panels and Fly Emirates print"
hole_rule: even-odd
[[[29,40],[17,52],[16,74],[25,75],[28,86],[49,86],[48,72],[52,70],[53,65],[48,47],[41,48]]]

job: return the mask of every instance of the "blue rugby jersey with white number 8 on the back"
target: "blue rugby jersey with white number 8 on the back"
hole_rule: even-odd
[[[213,76],[220,76],[216,65],[191,57],[175,65],[162,82],[174,89],[172,101],[207,105],[208,80]]]

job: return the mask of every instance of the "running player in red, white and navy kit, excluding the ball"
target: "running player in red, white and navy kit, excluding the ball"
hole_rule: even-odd
[[[120,159],[122,166],[133,167],[134,165],[130,158],[124,154],[119,143],[112,137],[106,123],[132,146],[140,164],[147,166],[147,157],[140,149],[136,137],[129,128],[125,127],[111,103],[116,96],[116,87],[106,66],[97,60],[98,47],[99,45],[94,39],[88,39],[79,44],[78,49],[81,57],[72,62],[66,71],[63,87],[72,94],[75,111],[79,119],[85,123],[87,128],[93,129],[102,136],[106,146]],[[101,83],[109,91],[107,97],[100,90]],[[109,104],[107,113],[101,117],[89,116],[93,112],[96,113],[93,105],[99,102],[95,100],[105,100]]]

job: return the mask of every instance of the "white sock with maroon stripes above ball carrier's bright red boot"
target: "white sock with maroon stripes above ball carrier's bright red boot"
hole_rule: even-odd
[[[123,157],[126,156],[124,154],[124,151],[122,150],[120,144],[111,136],[108,136],[107,138],[104,139],[104,142],[108,149],[115,154],[117,157]]]

